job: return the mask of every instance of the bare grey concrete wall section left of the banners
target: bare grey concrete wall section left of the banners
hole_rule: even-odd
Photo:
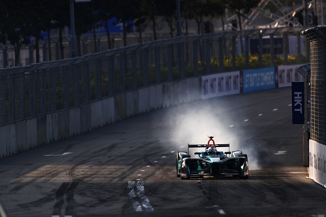
[[[0,127],[0,158],[60,141],[135,115],[202,99],[201,78],[144,87],[90,104]]]

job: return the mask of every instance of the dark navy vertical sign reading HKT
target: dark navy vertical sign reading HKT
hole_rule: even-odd
[[[292,82],[292,124],[304,124],[304,82]]]

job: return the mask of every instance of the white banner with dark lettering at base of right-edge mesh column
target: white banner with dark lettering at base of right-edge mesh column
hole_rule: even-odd
[[[313,140],[309,140],[309,178],[326,187],[326,146]]]

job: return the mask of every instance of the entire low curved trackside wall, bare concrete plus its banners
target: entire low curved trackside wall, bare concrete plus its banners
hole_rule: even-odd
[[[3,126],[0,127],[0,158],[77,136],[156,109],[211,97],[291,86],[291,82],[298,79],[295,70],[298,66],[301,65],[186,78],[132,90],[77,108]]]

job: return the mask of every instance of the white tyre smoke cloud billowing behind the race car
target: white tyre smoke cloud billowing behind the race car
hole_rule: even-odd
[[[230,151],[240,150],[247,154],[250,169],[258,169],[256,144],[244,141],[244,129],[232,125],[239,120],[238,117],[228,117],[228,109],[223,105],[216,106],[216,102],[210,104],[209,100],[169,108],[165,113],[169,143],[176,151],[186,151],[188,143],[207,144],[208,136],[214,136],[215,144],[230,143]],[[220,148],[219,151],[228,150]]]

